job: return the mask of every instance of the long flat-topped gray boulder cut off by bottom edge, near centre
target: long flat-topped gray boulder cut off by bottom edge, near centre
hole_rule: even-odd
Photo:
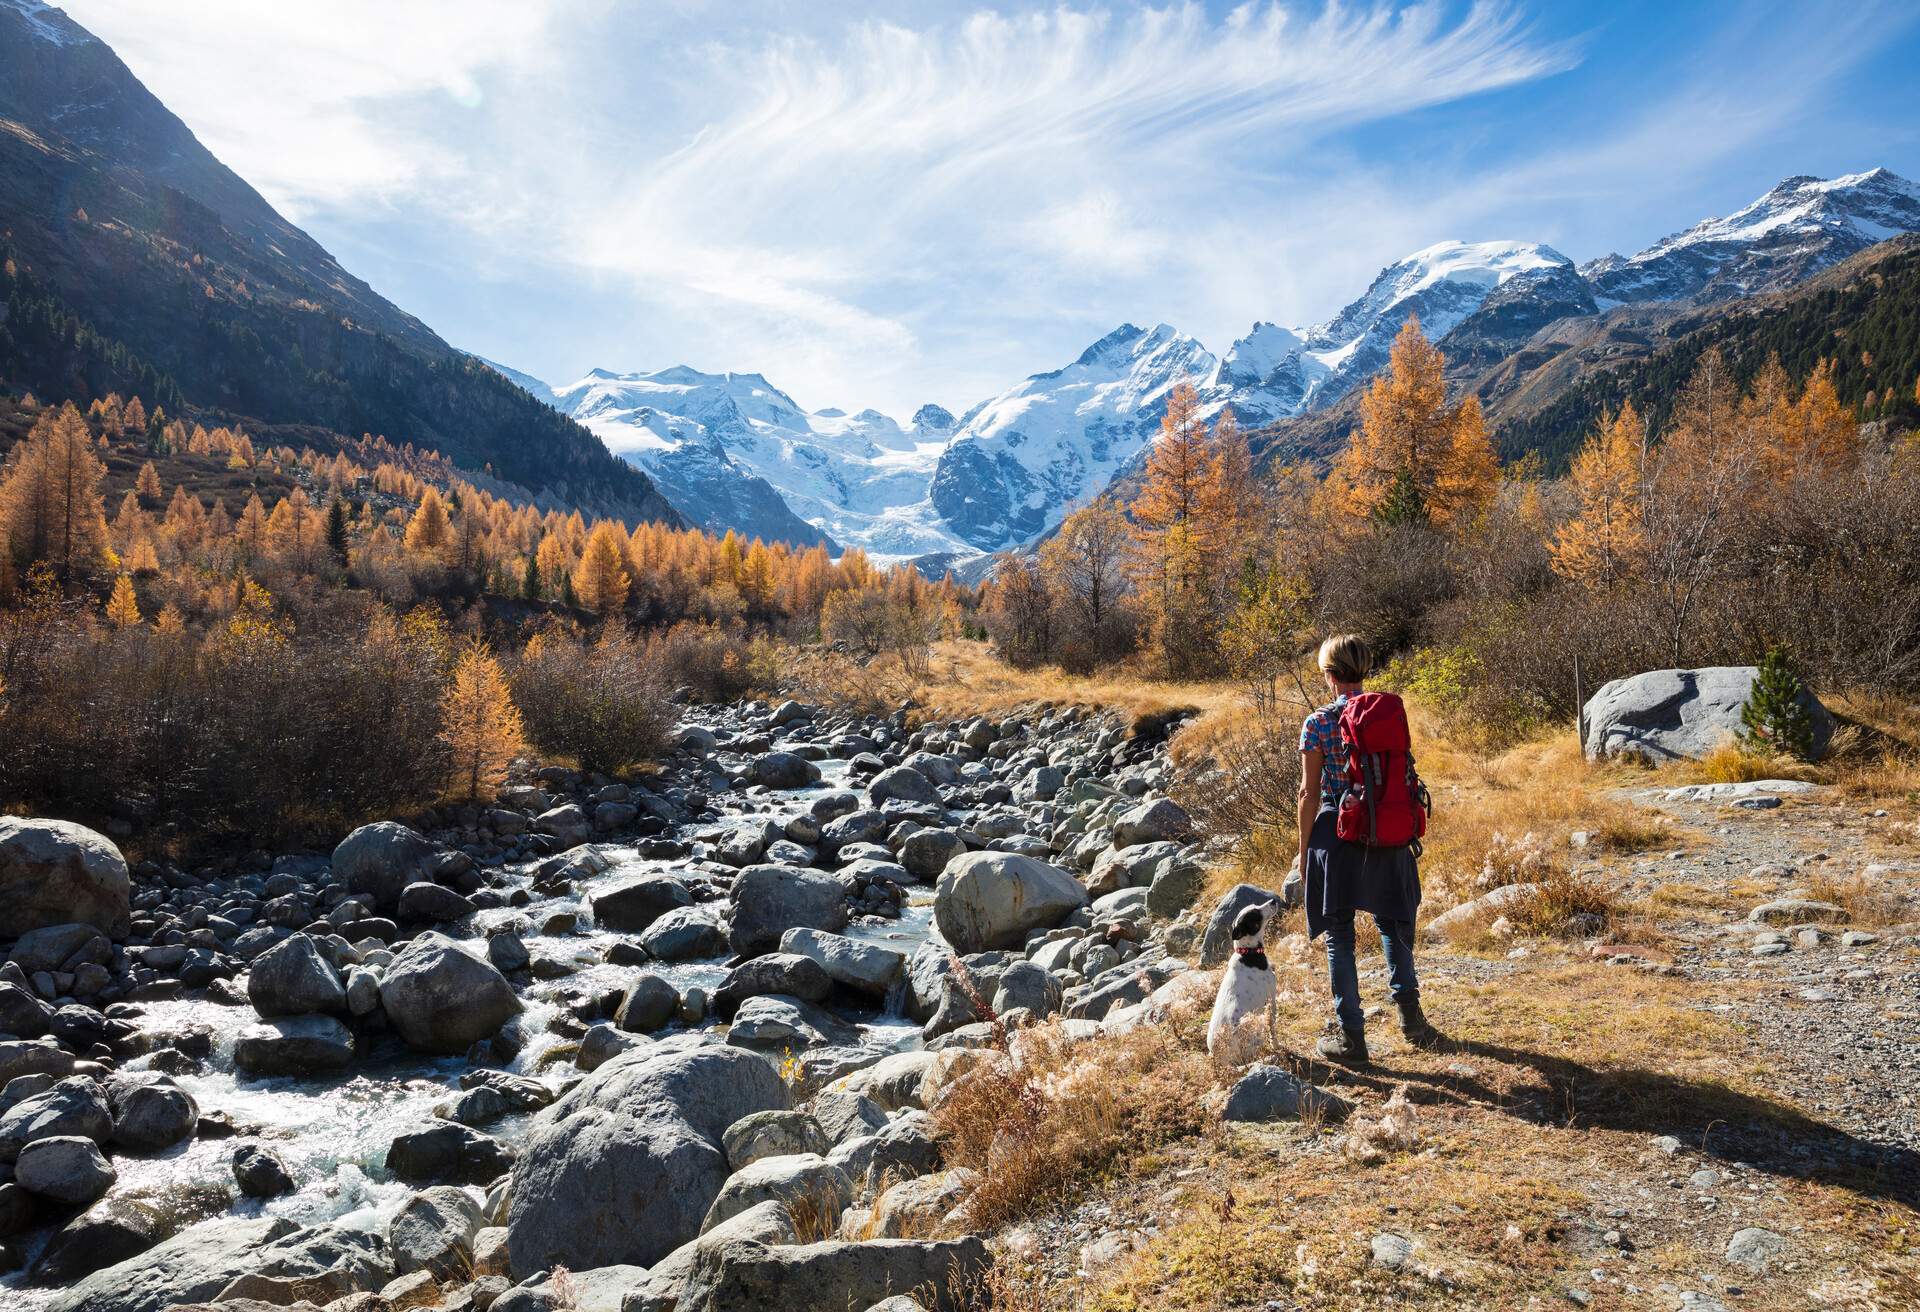
[[[912,1293],[933,1312],[985,1306],[993,1258],[979,1237],[870,1239],[770,1247],[753,1239],[699,1245],[678,1312],[847,1312]]]

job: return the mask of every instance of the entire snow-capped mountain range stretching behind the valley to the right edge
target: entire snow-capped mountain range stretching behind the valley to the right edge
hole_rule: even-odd
[[[1135,471],[1181,380],[1204,417],[1231,405],[1261,428],[1332,407],[1386,365],[1413,315],[1455,373],[1478,373],[1557,321],[1622,300],[1774,290],[1907,231],[1920,231],[1920,188],[1876,169],[1788,179],[1730,219],[1584,269],[1538,242],[1440,242],[1382,269],[1323,325],[1256,323],[1219,357],[1167,325],[1123,325],[960,419],[924,405],[910,425],[872,409],[808,413],[756,373],[593,371],[557,392],[501,373],[645,469],[697,524],[950,563],[1031,546]]]

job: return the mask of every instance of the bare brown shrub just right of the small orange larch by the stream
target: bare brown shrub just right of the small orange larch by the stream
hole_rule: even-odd
[[[538,634],[515,661],[513,699],[543,751],[611,774],[660,755],[674,728],[660,670],[624,624],[586,642]]]

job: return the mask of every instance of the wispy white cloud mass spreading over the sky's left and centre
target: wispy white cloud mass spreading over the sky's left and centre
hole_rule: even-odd
[[[806,12],[810,35],[753,0],[67,8],[323,240],[376,211],[396,263],[626,288],[618,328],[574,330],[611,357],[549,373],[687,359],[897,411],[964,407],[1119,319],[1225,350],[1352,292],[1432,236],[1388,182],[1329,179],[1325,138],[1574,60],[1500,0]]]

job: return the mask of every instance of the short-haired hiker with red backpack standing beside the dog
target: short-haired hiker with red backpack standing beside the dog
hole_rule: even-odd
[[[1367,692],[1373,653],[1356,634],[1329,638],[1321,674],[1334,699],[1300,724],[1300,874],[1308,937],[1327,935],[1327,974],[1338,1032],[1315,1051],[1327,1060],[1367,1060],[1367,1022],[1354,964],[1354,912],[1380,930],[1388,991],[1400,1030],[1419,1049],[1444,1041],[1421,1010],[1413,968],[1413,916],[1421,905],[1419,839],[1427,790],[1413,770],[1407,709],[1394,693]]]

